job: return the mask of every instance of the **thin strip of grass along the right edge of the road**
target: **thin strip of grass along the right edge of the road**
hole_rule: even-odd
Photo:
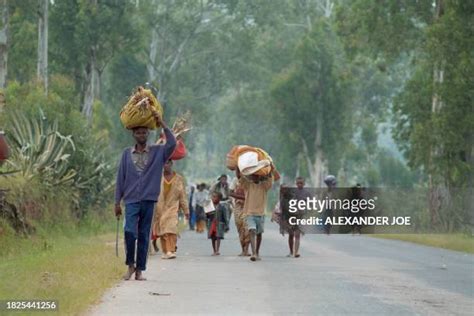
[[[369,236],[403,240],[426,246],[474,254],[474,237],[466,234],[374,234]]]

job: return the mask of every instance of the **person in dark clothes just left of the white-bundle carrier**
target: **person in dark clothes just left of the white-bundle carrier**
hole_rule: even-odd
[[[225,206],[220,204],[222,194],[220,192],[212,193],[211,203],[214,206],[214,210],[208,212],[207,215],[207,237],[212,241],[213,256],[220,255],[219,248],[221,245],[221,239],[224,239],[224,233],[226,227],[228,227],[226,209]]]

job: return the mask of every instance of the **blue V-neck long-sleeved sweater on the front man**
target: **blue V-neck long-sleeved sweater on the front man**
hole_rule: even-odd
[[[133,163],[132,149],[122,153],[115,186],[115,203],[125,204],[140,201],[157,201],[161,190],[161,176],[166,161],[176,147],[176,138],[169,128],[164,129],[166,143],[148,147],[148,159],[142,172]]]

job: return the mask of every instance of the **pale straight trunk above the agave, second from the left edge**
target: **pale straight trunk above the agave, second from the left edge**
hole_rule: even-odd
[[[49,0],[38,0],[38,80],[44,85],[48,94],[48,3]]]

